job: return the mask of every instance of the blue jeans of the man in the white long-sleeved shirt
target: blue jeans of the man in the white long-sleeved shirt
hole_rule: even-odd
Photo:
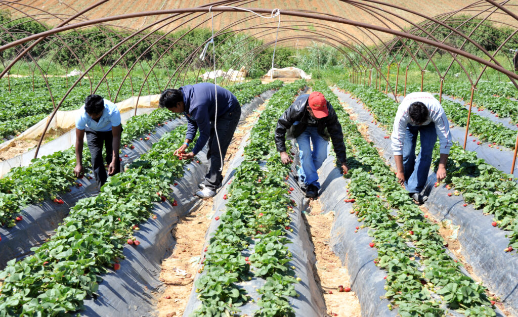
[[[415,143],[421,136],[421,151],[415,158]],[[407,124],[403,145],[403,168],[405,169],[405,188],[409,193],[421,193],[428,179],[431,154],[437,141],[437,132],[433,122],[427,125]]]

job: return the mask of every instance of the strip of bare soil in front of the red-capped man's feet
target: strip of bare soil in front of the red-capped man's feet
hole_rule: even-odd
[[[327,314],[333,316],[361,316],[358,297],[355,292],[339,292],[338,285],[350,287],[349,272],[342,266],[340,258],[329,247],[331,226],[335,213],[322,213],[318,199],[310,202],[311,212],[305,217],[310,239],[315,247],[315,281],[324,295]],[[329,293],[331,292],[331,294]]]

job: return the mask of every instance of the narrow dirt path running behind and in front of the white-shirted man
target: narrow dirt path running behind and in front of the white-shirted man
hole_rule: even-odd
[[[355,113],[353,111],[353,109],[351,109],[346,102],[340,102],[340,104],[342,105],[343,109],[346,110],[347,113],[350,114],[351,119],[352,120],[356,120],[357,113]],[[358,131],[362,134],[362,136],[367,141],[372,141],[370,139],[370,137],[369,137],[369,134],[368,134],[369,126],[367,124],[362,124],[362,123],[359,123],[357,125],[358,125]],[[378,148],[378,147],[376,147],[376,149],[378,150],[378,153],[380,154],[380,157],[383,158],[383,152],[384,151],[382,149]],[[385,163],[389,164],[388,162],[385,162]],[[391,170],[394,171],[394,169],[392,167],[391,167]],[[447,247],[448,250],[451,253],[453,253],[453,255],[457,258],[457,261],[459,261],[459,262],[461,262],[463,264],[464,268],[469,273],[470,277],[474,281],[483,284],[482,283],[482,279],[480,277],[478,277],[474,273],[473,268],[471,267],[471,265],[469,265],[467,263],[466,258],[461,253],[462,246],[461,246],[461,243],[459,243],[458,240],[457,240],[457,230],[458,230],[458,227],[455,226],[455,225],[452,225],[451,221],[446,221],[446,220],[442,220],[442,219],[436,219],[434,217],[434,215],[428,211],[428,208],[426,208],[423,205],[419,206],[419,208],[421,209],[423,214],[428,216],[428,219],[430,219],[431,221],[433,221],[434,223],[437,223],[439,225],[439,235],[444,239],[445,247]],[[486,290],[485,293],[486,293],[487,297],[490,298],[491,300],[493,300],[493,298],[495,297],[495,294],[490,293],[487,290]],[[505,314],[507,317],[512,316],[511,313],[508,312],[505,309],[503,304],[498,302],[497,298],[495,298],[494,300],[497,301],[496,306],[503,312],[503,314]]]

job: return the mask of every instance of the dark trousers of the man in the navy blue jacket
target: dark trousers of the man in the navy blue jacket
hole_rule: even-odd
[[[218,118],[217,126],[218,138],[220,139],[221,156],[225,158],[226,151],[234,132],[236,131],[239,118],[241,117],[241,106],[239,104],[234,107],[230,112],[225,113],[222,118]],[[210,138],[209,138],[209,150],[207,152],[207,160],[209,161],[209,170],[205,175],[205,186],[211,190],[216,190],[221,187],[223,181],[223,175],[221,175],[221,158],[220,150],[218,147],[218,140],[216,138],[214,122],[210,123]]]

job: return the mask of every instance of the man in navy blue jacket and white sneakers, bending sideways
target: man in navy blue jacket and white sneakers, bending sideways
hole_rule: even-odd
[[[223,180],[221,158],[225,157],[241,117],[241,106],[236,96],[218,85],[202,82],[165,90],[160,96],[159,106],[172,112],[183,112],[188,120],[185,141],[175,151],[175,155],[184,159],[192,158],[209,142],[209,170],[205,181],[199,184],[201,190],[196,195],[202,198],[213,197]],[[185,153],[198,129],[199,137],[192,152]]]

